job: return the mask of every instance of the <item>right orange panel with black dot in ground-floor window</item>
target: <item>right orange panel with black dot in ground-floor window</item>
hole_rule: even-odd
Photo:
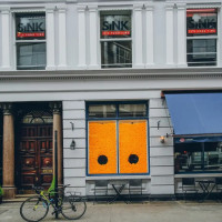
[[[120,121],[120,173],[148,173],[147,134],[147,120]]]

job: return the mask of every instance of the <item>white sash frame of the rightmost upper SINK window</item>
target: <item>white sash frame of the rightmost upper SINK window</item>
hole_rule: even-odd
[[[194,37],[188,37],[188,10],[199,10],[199,9],[216,9],[216,34],[206,34],[206,36],[194,36]],[[190,68],[214,68],[214,67],[219,67],[219,61],[220,61],[220,30],[219,30],[219,27],[220,27],[220,10],[215,7],[215,8],[205,8],[205,7],[199,7],[199,8],[186,8],[185,10],[185,42],[186,42],[186,53],[185,53],[185,58],[186,58],[186,65],[190,67]],[[215,64],[211,65],[211,64],[205,64],[205,65],[196,65],[198,62],[189,62],[188,61],[188,56],[189,54],[195,54],[195,53],[188,53],[188,41],[189,40],[210,40],[210,39],[213,39],[215,40],[215,56],[216,56],[216,60],[215,60]],[[210,52],[211,53],[211,52]],[[213,52],[212,52],[213,53]],[[195,65],[189,65],[189,64],[192,64],[194,63]],[[204,63],[204,62],[203,62]]]

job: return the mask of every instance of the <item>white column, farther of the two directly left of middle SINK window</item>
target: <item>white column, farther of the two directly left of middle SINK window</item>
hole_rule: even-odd
[[[87,69],[85,40],[85,6],[78,6],[79,63],[80,69]]]

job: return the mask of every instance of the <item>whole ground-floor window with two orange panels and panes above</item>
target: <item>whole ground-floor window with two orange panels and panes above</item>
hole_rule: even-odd
[[[147,103],[88,105],[90,175],[149,173],[147,110]]]

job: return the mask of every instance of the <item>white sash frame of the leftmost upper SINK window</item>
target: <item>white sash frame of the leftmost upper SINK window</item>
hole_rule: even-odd
[[[44,22],[46,22],[46,37],[44,39],[26,39],[26,40],[19,40],[17,39],[17,16],[44,16]],[[14,42],[14,68],[17,71],[36,71],[36,70],[46,70],[47,69],[47,13],[44,10],[33,10],[33,11],[13,11],[13,30],[12,30],[12,36],[13,36],[13,42]],[[22,43],[44,43],[46,44],[46,64],[43,69],[32,69],[32,68],[38,68],[36,67],[30,67],[30,69],[28,67],[24,67],[24,69],[18,69],[18,44],[22,44]],[[41,65],[43,67],[43,65]]]

